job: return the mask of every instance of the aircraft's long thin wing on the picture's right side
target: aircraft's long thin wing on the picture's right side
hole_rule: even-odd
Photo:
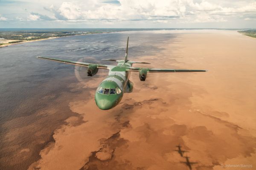
[[[140,71],[143,68],[129,67],[128,71]],[[168,73],[168,72],[205,72],[206,70],[186,70],[186,69],[164,69],[164,68],[145,68],[148,73]]]

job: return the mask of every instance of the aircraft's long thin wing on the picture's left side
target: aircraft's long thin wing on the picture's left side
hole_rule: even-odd
[[[82,66],[82,67],[88,67],[90,64],[92,64],[92,63],[87,63],[87,62],[76,62],[76,61],[70,61],[70,60],[65,60],[65,59],[55,59],[55,58],[40,57],[40,56],[37,56],[37,58],[47,59],[47,60],[55,61],[55,62],[62,62],[64,64],[78,65],[78,66]],[[104,64],[96,64],[96,65],[97,65],[97,68],[103,68],[103,69],[108,69],[108,66],[109,66],[109,65],[104,65]]]

